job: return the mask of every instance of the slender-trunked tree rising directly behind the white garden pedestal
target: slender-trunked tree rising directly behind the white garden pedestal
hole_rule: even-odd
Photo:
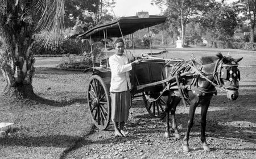
[[[173,28],[179,28],[181,30],[181,39],[183,40],[183,44],[185,42],[186,24],[193,15],[197,14],[197,11],[205,2],[208,1],[167,0],[164,2],[162,0],[151,0],[152,5],[155,4],[159,7],[162,7],[163,5],[167,6],[166,13],[169,16],[168,20],[174,26],[177,26]]]

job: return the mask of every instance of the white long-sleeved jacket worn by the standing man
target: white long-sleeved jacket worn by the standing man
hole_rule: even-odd
[[[131,89],[129,71],[131,64],[125,55],[113,55],[109,57],[109,66],[111,70],[110,92],[121,92]],[[127,84],[128,87],[127,88]]]

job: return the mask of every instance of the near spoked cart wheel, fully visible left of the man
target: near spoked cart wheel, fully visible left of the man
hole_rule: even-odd
[[[99,129],[106,129],[110,123],[111,105],[108,87],[100,76],[90,78],[87,95],[94,125]]]

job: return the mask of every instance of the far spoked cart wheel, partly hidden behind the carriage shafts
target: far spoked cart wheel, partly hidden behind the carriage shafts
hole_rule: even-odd
[[[150,99],[147,99],[146,95],[150,97]],[[162,96],[157,101],[152,101],[153,99],[157,99],[160,94],[147,92],[146,95],[143,93],[143,102],[148,113],[154,118],[164,118],[166,116],[165,107],[168,97]]]

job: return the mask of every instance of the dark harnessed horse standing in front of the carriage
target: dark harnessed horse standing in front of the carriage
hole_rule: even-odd
[[[167,62],[165,78],[176,76],[176,81],[167,83],[169,86],[166,104],[166,129],[165,137],[170,137],[169,114],[171,112],[172,129],[176,139],[180,139],[177,129],[175,111],[181,99],[184,104],[189,104],[189,120],[187,132],[183,138],[183,150],[189,151],[189,133],[193,126],[193,119],[197,106],[201,106],[201,141],[203,149],[210,151],[205,137],[207,111],[213,94],[217,94],[217,88],[227,92],[228,99],[234,101],[238,98],[238,81],[240,81],[240,70],[238,62],[241,58],[232,58],[218,53],[216,56],[205,56],[193,58],[189,62]],[[187,73],[186,76],[181,76]],[[175,83],[175,85],[174,85]]]

